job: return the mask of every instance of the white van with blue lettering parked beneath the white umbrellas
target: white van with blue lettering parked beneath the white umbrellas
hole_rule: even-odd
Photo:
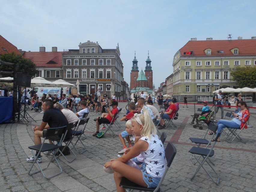
[[[66,94],[66,96],[69,96],[71,93],[71,88],[70,87],[35,87],[35,92],[38,95],[39,99],[43,97],[43,93],[51,94],[53,97],[55,94],[57,95],[58,98],[62,97],[62,94]]]

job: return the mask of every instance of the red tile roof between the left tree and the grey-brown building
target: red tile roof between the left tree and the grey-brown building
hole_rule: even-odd
[[[60,52],[25,52],[24,58],[30,59],[37,67],[62,67],[62,53]],[[51,62],[53,61],[53,62]],[[49,64],[47,64],[49,62]],[[54,64],[54,62],[56,64]]]

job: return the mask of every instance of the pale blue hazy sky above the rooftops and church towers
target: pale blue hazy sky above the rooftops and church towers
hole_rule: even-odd
[[[135,51],[140,71],[149,51],[157,88],[190,38],[256,36],[255,7],[255,0],[1,0],[0,35],[24,51],[79,49],[88,40],[115,49],[118,43],[129,85]]]

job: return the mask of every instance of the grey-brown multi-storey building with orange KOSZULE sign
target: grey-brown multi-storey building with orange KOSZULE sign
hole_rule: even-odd
[[[80,93],[90,94],[101,88],[108,97],[114,93],[117,100],[127,98],[123,86],[123,62],[120,50],[102,49],[98,42],[87,41],[79,44],[78,50],[67,50],[63,56],[63,80],[80,83]]]

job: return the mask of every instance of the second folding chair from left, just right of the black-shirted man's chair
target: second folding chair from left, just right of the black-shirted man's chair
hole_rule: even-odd
[[[78,127],[77,127],[77,124],[78,124],[78,121],[76,121],[76,122],[74,122],[74,123],[69,123],[69,126],[68,126],[68,128],[67,128],[67,131],[69,131],[69,130],[72,130],[72,128],[74,128],[74,131],[73,131],[73,133],[72,133],[72,136],[70,137],[70,138],[67,138],[67,139],[63,139],[63,143],[65,143],[65,147],[62,149],[62,151],[60,151],[59,149],[58,149],[58,151],[59,151],[59,155],[57,156],[57,157],[59,157],[60,155],[62,155],[65,159],[66,159],[66,161],[67,162],[69,162],[69,163],[71,163],[73,160],[75,160],[75,158],[76,158],[76,154],[72,151],[72,149],[69,147],[69,144],[72,142],[72,139],[74,138],[74,136],[75,136],[75,134],[76,134],[76,131],[77,131],[77,129],[78,129]],[[76,128],[75,128],[76,127]],[[56,142],[60,142],[59,140],[53,140],[53,142],[54,141],[56,141]],[[65,150],[65,148],[69,148],[69,151],[74,155],[74,158],[72,159],[72,160],[68,160],[67,159],[67,157],[62,153],[64,150]]]

